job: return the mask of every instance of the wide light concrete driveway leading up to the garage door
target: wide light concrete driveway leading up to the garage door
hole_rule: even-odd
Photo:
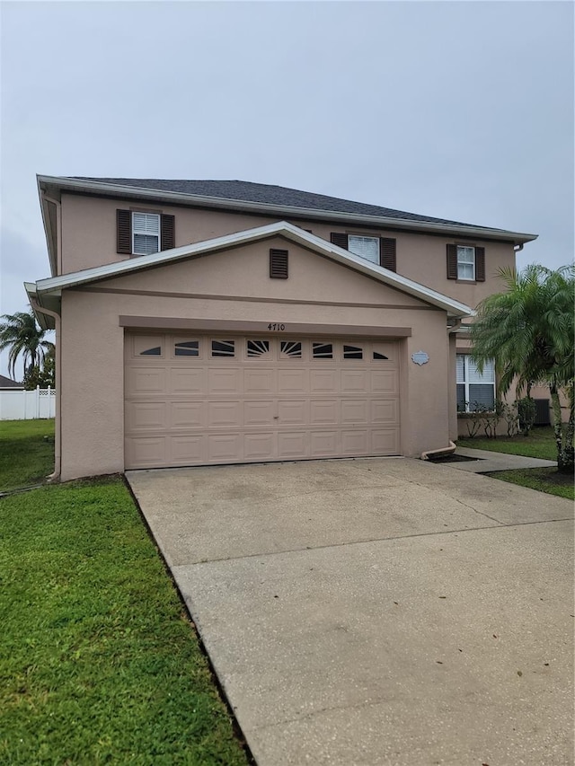
[[[573,762],[573,508],[406,459],[129,471],[260,766]]]

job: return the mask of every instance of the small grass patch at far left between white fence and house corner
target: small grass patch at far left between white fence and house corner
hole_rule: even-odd
[[[0,420],[0,492],[41,484],[54,471],[54,419]]]

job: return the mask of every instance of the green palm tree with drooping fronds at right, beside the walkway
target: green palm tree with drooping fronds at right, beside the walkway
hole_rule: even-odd
[[[499,392],[505,394],[515,381],[517,398],[532,383],[549,386],[559,471],[573,471],[575,433],[575,321],[573,298],[575,268],[553,271],[532,264],[520,274],[500,269],[506,292],[490,295],[477,307],[470,335],[473,358],[480,370],[495,360]],[[559,391],[570,401],[570,417],[562,429]]]

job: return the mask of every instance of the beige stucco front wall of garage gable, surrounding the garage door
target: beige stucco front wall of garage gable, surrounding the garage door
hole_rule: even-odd
[[[269,249],[279,245],[288,246],[288,280],[269,277]],[[158,317],[158,327],[162,318],[166,325],[174,318],[257,321],[261,332],[270,321],[287,327],[290,322],[411,327],[411,337],[402,341],[402,452],[416,455],[447,445],[446,313],[275,238],[64,292],[63,480],[123,471],[124,328],[119,316]],[[411,362],[411,354],[420,350],[429,354],[426,365]]]

